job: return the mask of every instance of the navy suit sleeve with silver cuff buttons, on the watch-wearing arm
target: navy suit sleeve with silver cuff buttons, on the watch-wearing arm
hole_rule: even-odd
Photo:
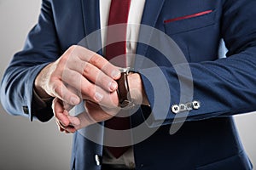
[[[224,1],[221,37],[228,48],[227,58],[161,66],[166,84],[155,77],[154,67],[139,71],[151,105],[151,110],[142,111],[150,127],[256,111],[256,11],[253,8],[256,8],[254,1]],[[188,67],[191,76],[185,71]],[[155,88],[152,82],[161,84]],[[158,90],[165,92],[156,99]],[[189,105],[193,101],[199,101],[200,108],[172,111],[173,105]]]

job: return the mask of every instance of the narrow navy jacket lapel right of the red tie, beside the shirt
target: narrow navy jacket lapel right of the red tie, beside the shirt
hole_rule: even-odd
[[[148,29],[148,26],[154,28],[164,3],[165,3],[165,0],[156,0],[156,1],[147,0],[146,1],[141,24],[146,25],[147,27],[141,26],[138,42],[150,41],[152,36],[150,33],[152,32],[150,31],[150,29]],[[145,32],[147,33],[145,34]],[[145,56],[147,49],[148,49],[148,45],[144,45],[142,43],[137,44],[137,54],[141,56]],[[134,67],[135,69],[138,69],[140,68],[141,65],[143,65],[143,59],[140,57],[139,59],[136,59]]]

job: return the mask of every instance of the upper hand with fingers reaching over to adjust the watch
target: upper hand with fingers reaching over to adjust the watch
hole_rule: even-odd
[[[89,49],[72,46],[55,62],[44,67],[35,80],[34,87],[42,98],[54,97],[67,105],[78,105],[82,99],[101,105],[118,105],[119,68]],[[65,115],[65,114],[64,114]],[[58,121],[68,123],[67,115]]]

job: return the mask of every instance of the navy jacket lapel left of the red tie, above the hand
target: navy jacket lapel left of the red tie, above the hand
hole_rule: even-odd
[[[81,4],[83,10],[85,39],[81,41],[79,45],[102,54],[99,0],[81,0]]]

